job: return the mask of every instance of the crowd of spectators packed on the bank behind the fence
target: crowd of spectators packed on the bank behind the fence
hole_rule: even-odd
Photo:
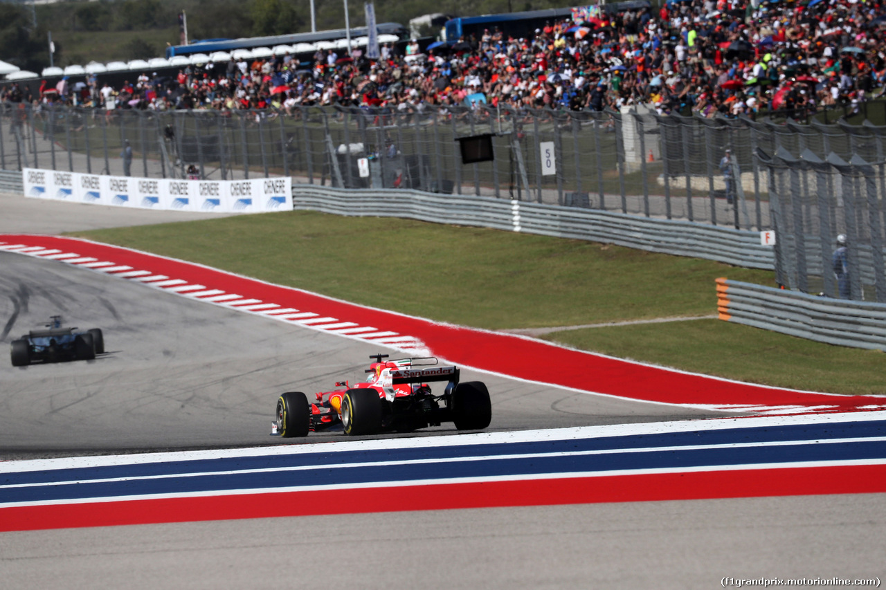
[[[601,111],[653,105],[711,117],[857,105],[886,83],[883,0],[687,0],[548,22],[527,38],[496,27],[455,46],[369,60],[361,49],[144,73],[119,88],[95,77],[35,101],[112,108],[273,109],[345,105],[421,111],[486,105]],[[68,86],[68,84],[73,85]],[[4,98],[20,90],[4,89]],[[19,100],[27,100],[20,97]]]

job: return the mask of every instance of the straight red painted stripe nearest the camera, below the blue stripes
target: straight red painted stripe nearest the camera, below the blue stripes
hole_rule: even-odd
[[[452,508],[882,492],[886,492],[886,465],[563,477],[0,508],[0,532]]]

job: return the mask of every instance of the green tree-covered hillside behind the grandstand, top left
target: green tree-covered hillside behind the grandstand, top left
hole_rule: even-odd
[[[365,24],[363,1],[347,0],[352,27]],[[497,12],[563,7],[555,0],[375,0],[378,22],[399,22],[432,12],[473,16]],[[187,13],[190,40],[287,35],[311,30],[309,0],[80,0],[55,4],[0,3],[0,59],[22,69],[40,72],[49,66],[47,34],[89,33],[89,43],[103,47],[103,35],[133,32],[114,59],[151,58],[163,54],[161,43],[147,43],[137,34],[167,30],[166,43],[178,44],[177,17]],[[343,28],[344,4],[315,0],[317,30]],[[154,35],[156,37],[156,35]],[[167,38],[168,37],[168,38]],[[73,56],[64,43],[56,44],[55,64]],[[69,61],[69,60],[68,60]]]

